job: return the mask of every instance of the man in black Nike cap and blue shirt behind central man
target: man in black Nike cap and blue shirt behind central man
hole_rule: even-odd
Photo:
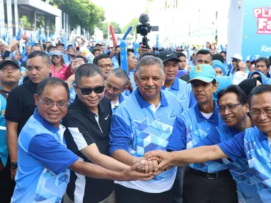
[[[173,93],[182,104],[183,110],[188,110],[196,104],[196,100],[191,85],[177,78],[180,59],[171,50],[161,51],[158,57],[163,61],[163,69],[166,74],[165,85],[162,89]]]

